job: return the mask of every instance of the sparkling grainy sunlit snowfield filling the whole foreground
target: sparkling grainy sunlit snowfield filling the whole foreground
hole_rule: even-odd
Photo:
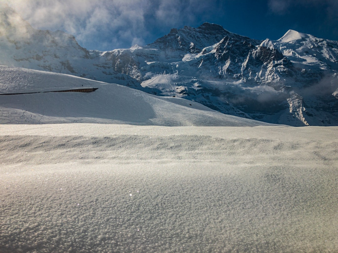
[[[0,125],[0,252],[337,252],[337,133]]]

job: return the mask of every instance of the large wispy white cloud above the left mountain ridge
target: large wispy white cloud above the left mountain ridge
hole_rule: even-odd
[[[204,0],[2,1],[35,29],[63,30],[81,46],[101,50],[145,44],[154,30],[166,32],[203,18],[206,6]]]

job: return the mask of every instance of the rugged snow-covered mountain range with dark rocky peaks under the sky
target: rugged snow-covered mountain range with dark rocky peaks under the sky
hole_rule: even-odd
[[[204,23],[101,52],[62,31],[35,30],[8,6],[0,24],[2,65],[117,83],[264,122],[338,125],[338,41],[292,30],[260,41]]]

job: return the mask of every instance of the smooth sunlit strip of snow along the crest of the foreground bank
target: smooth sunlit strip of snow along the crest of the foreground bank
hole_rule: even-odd
[[[294,128],[283,125],[237,127],[237,126],[150,126],[150,125],[126,125],[126,124],[42,124],[42,125],[0,125],[0,135],[40,135],[40,136],[116,136],[116,135],[138,135],[138,136],[211,136],[213,138],[233,139],[255,138],[255,139],[278,139],[307,140],[313,132],[311,140],[336,140],[337,126],[311,126]],[[269,135],[266,133],[269,132]]]

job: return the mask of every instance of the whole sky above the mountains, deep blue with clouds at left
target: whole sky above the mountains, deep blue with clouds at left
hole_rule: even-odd
[[[338,40],[338,0],[0,0],[35,29],[63,30],[87,49],[146,45],[203,22],[255,39],[289,29]]]

